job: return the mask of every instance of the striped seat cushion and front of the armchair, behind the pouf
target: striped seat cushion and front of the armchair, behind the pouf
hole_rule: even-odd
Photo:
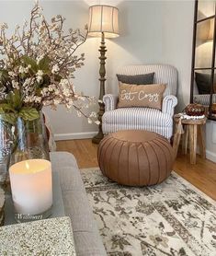
[[[173,133],[173,118],[156,109],[119,108],[104,113],[102,129],[104,134],[119,130],[146,130],[170,139]]]

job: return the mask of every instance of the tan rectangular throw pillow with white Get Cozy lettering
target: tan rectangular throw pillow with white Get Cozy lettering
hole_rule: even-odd
[[[118,108],[147,107],[162,109],[162,101],[166,85],[128,85],[119,82]]]

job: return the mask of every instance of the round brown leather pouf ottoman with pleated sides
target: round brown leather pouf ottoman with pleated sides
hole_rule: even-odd
[[[97,157],[105,176],[129,186],[162,182],[170,175],[175,159],[165,137],[140,130],[108,134],[98,146]]]

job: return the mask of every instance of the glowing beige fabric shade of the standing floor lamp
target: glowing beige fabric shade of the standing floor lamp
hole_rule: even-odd
[[[88,35],[100,37],[104,32],[106,38],[119,36],[119,10],[114,6],[90,6]]]

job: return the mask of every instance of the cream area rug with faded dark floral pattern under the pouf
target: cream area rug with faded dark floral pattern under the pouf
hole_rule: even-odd
[[[81,174],[108,255],[216,255],[215,201],[174,171],[142,188],[120,186],[97,168]]]

